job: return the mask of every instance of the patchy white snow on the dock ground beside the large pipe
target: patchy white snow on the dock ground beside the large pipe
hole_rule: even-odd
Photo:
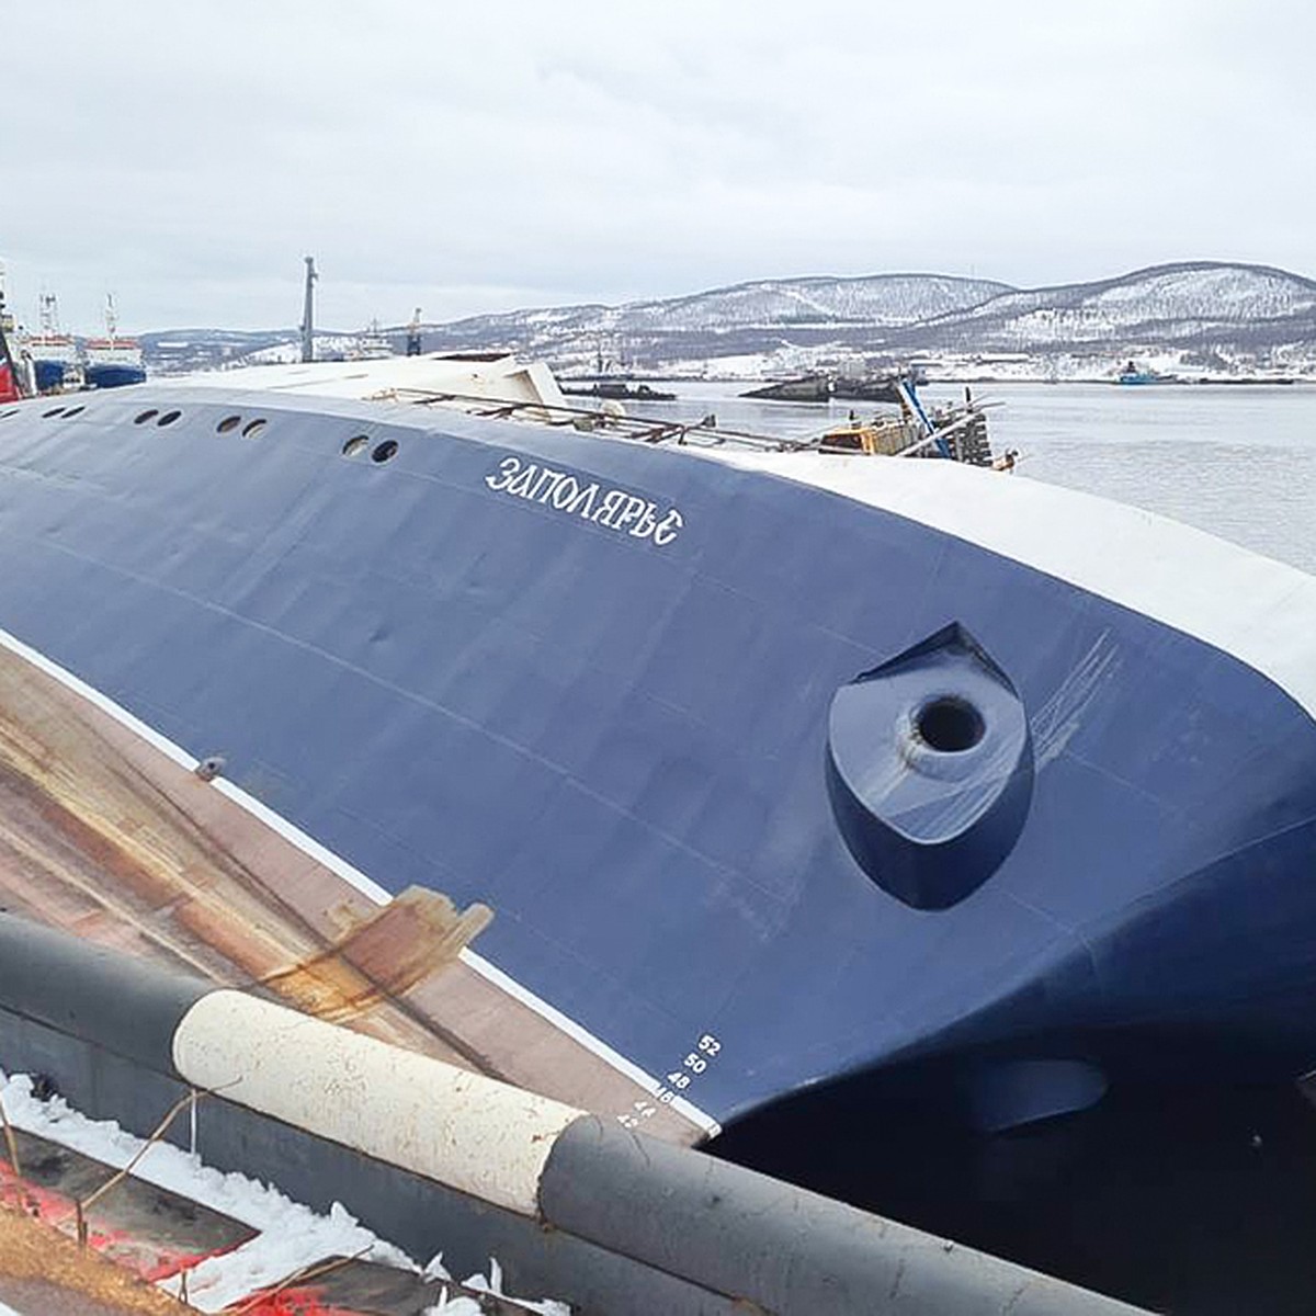
[[[0,1071],[0,1103],[14,1128],[114,1169],[124,1169],[145,1146],[145,1140],[125,1132],[112,1120],[89,1120],[78,1113],[63,1098],[38,1100],[32,1091],[32,1079],[25,1074],[7,1079]],[[178,1116],[180,1126],[186,1128],[187,1120],[184,1108]],[[242,1246],[221,1257],[209,1257],[188,1271],[188,1302],[204,1312],[222,1311],[255,1290],[271,1287],[330,1257],[358,1257],[403,1270],[421,1270],[404,1252],[358,1224],[340,1203],[336,1202],[328,1215],[318,1215],[268,1184],[243,1174],[213,1170],[203,1165],[195,1152],[183,1152],[167,1142],[153,1145],[134,1166],[133,1175],[259,1230]],[[429,1263],[425,1274],[451,1279],[442,1266],[442,1254]],[[501,1283],[501,1267],[490,1258],[490,1277],[472,1275],[463,1287],[503,1295]],[[179,1295],[176,1277],[159,1287]],[[554,1300],[516,1300],[544,1316],[567,1316],[570,1311]],[[430,1312],[434,1316],[478,1316],[479,1307],[463,1295],[446,1298],[445,1291],[443,1300]],[[17,1313],[0,1304],[0,1316]]]

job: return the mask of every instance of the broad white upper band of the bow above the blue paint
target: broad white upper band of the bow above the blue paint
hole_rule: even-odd
[[[957,462],[682,449],[840,494],[1109,599],[1269,676],[1316,717],[1316,576],[1153,512]]]

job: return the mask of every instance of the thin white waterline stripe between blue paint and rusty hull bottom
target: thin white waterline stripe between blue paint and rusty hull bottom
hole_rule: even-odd
[[[58,663],[51,662],[45,654],[38,653],[30,645],[24,644],[16,636],[9,634],[7,630],[0,630],[0,647],[8,649],[11,653],[22,658],[25,662],[32,663],[38,671],[45,672],[47,676],[58,680],[64,688],[72,691],[82,699],[86,699],[92,707],[112,717],[121,726],[130,730],[134,736],[141,737],[159,753],[164,754],[171,762],[178,763],[179,767],[186,769],[188,772],[196,770],[200,762],[180,745],[175,745],[174,741],[162,736],[154,728],[149,726],[139,717],[130,713],[121,704],[117,704],[113,699],[101,694],[93,686],[88,686],[87,682],[75,676],[71,671],[61,667]],[[226,780],[222,776],[216,778],[211,782],[211,786],[230,799],[234,804],[246,809],[254,819],[258,819],[272,832],[278,833],[283,840],[288,841],[291,845],[301,850],[303,854],[309,855],[317,863],[326,867],[330,873],[342,878],[343,882],[350,883],[362,895],[374,900],[376,904],[384,905],[392,900],[392,896],[386,891],[378,882],[367,876],[359,869],[350,865],[346,859],[334,854],[333,850],[326,849],[315,837],[308,836],[299,826],[290,822],[286,817],[275,813],[271,808],[263,804],[255,796],[249,795],[240,786],[234,786],[233,782]],[[625,1078],[630,1079],[633,1083],[638,1084],[650,1095],[657,1095],[662,1090],[662,1084],[651,1074],[647,1074],[633,1061],[626,1059],[619,1051],[613,1050],[607,1042],[595,1037],[587,1028],[578,1024],[574,1019],[563,1015],[559,1009],[550,1005],[546,1000],[537,996],[528,987],[524,987],[515,978],[503,973],[490,961],[484,959],[482,955],[475,954],[470,949],[463,949],[461,951],[462,962],[478,973],[482,978],[487,979],[490,983],[501,988],[515,1000],[520,1001],[522,1005],[532,1009],[545,1021],[553,1024],[561,1032],[566,1033],[572,1041],[578,1042],[580,1046],[586,1048],[591,1054],[599,1057],[604,1063],[609,1065],[617,1073],[622,1074]],[[676,1098],[672,1103],[672,1109],[679,1115],[684,1116],[696,1128],[703,1129],[709,1137],[716,1136],[721,1132],[719,1123],[707,1112],[700,1111],[696,1105],[690,1101],[684,1101]]]

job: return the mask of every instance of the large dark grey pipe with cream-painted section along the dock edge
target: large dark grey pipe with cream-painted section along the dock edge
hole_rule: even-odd
[[[39,1038],[24,1040],[11,1026],[17,1021]],[[92,1116],[133,1123],[133,1112],[113,1108],[130,1098],[111,1099],[112,1084],[95,1070],[95,1055],[108,1053],[212,1094],[207,1105],[309,1134],[286,1166],[268,1158],[286,1140],[253,1134],[250,1120],[233,1142],[247,1159],[258,1142],[265,1150],[257,1165],[229,1167],[286,1191],[295,1191],[287,1177],[305,1175],[317,1148],[346,1149],[357,1157],[346,1161],[349,1177],[378,1184],[383,1174],[386,1196],[465,1211],[472,1228],[497,1236],[520,1291],[554,1292],[584,1313],[1136,1313],[561,1101],[8,913],[0,913],[0,1024],[5,1069],[32,1055],[58,1066],[59,1037],[89,1049],[92,1061],[79,1065],[91,1063],[91,1073],[79,1079],[70,1065],[58,1078],[82,1087],[68,1095]],[[120,1083],[120,1091],[139,1088]],[[136,1112],[137,1123],[142,1117]],[[328,1159],[343,1163],[341,1153]],[[342,1175],[332,1195],[376,1228]],[[417,1179],[445,1192],[417,1198]],[[521,1225],[509,1228],[516,1219]]]

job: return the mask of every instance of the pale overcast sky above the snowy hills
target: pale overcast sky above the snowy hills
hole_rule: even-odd
[[[747,279],[1316,275],[1316,8],[0,0],[0,259],[66,328]]]

